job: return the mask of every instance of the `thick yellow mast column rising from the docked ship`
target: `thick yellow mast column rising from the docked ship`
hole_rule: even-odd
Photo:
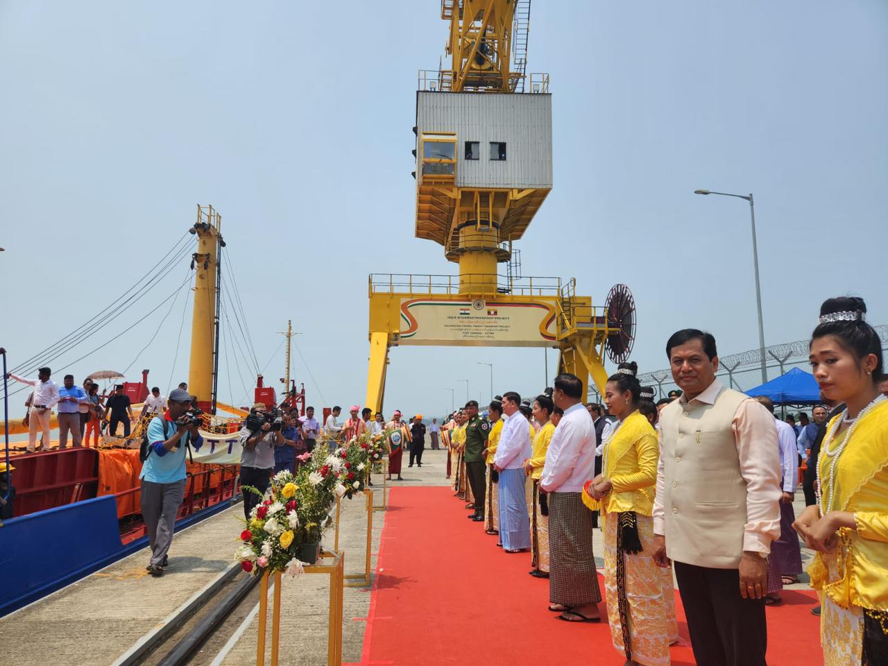
[[[212,206],[197,207],[197,235],[194,253],[194,313],[191,320],[191,361],[188,366],[188,392],[198,405],[210,409],[213,392],[213,349],[216,322],[216,269],[221,216]]]

